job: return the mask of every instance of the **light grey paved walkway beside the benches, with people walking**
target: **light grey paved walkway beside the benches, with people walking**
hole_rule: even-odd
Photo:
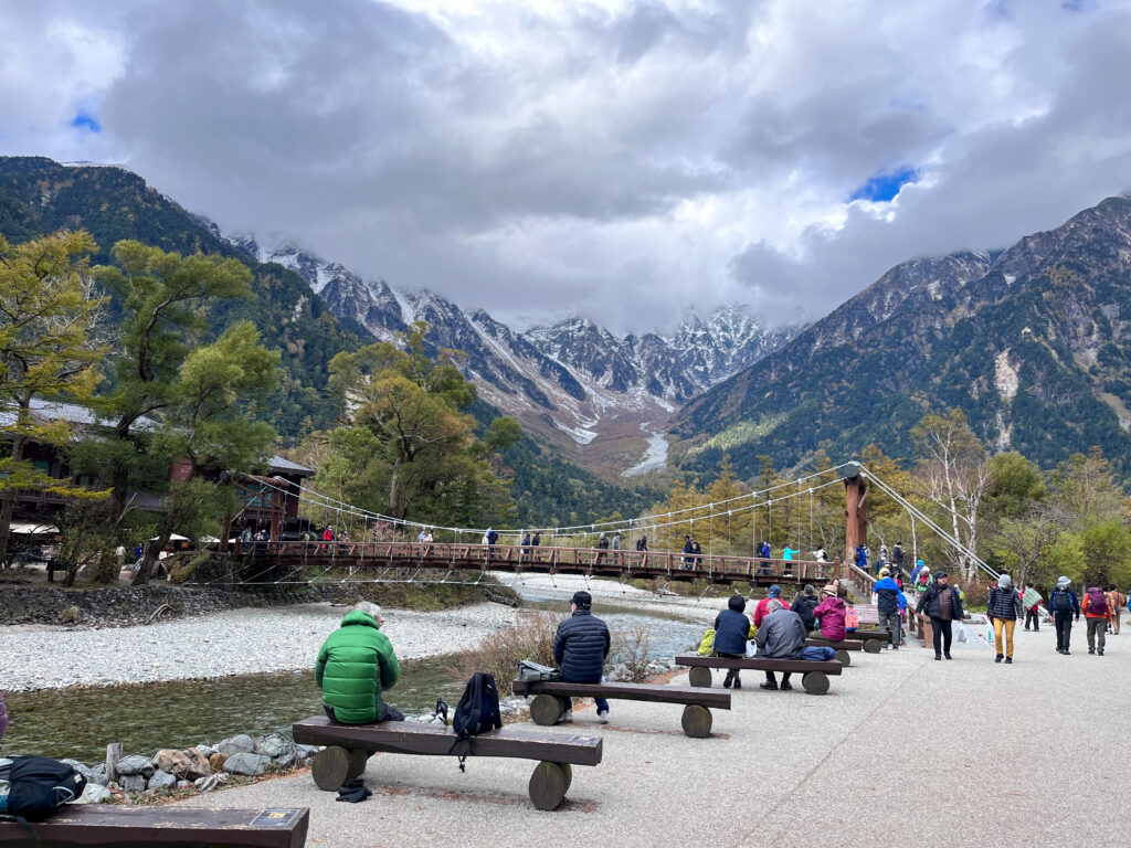
[[[1131,633],[1108,637],[1104,657],[1088,656],[1082,622],[1071,657],[1051,628],[1017,641],[1012,666],[984,643],[950,663],[918,648],[855,654],[823,698],[763,692],[746,673],[710,739],[680,734],[679,707],[613,701],[607,727],[578,712],[605,758],[575,768],[554,813],[529,805],[527,761],[472,759],[461,775],[454,759],[396,754],[370,761],[363,804],[336,803],[307,775],[187,803],[309,806],[308,845],[327,848],[1119,842]]]

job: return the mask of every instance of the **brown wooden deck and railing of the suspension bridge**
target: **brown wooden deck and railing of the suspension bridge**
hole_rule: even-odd
[[[515,573],[586,574],[620,579],[707,580],[713,583],[813,583],[840,577],[841,565],[804,560],[757,560],[673,552],[602,551],[577,547],[521,547],[408,542],[251,542],[236,551],[284,569],[320,568],[481,570]]]

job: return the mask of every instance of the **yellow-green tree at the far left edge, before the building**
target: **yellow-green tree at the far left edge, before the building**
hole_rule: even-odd
[[[61,448],[67,422],[36,416],[35,400],[85,403],[97,381],[104,345],[97,322],[104,300],[93,296],[87,254],[96,250],[84,232],[57,233],[12,246],[0,237],[0,432],[8,456],[0,459],[0,561],[7,556],[16,493],[36,488],[71,497],[105,493],[36,470],[25,459],[29,443]]]

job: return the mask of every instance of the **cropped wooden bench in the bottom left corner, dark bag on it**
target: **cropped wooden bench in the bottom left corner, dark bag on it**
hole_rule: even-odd
[[[195,810],[175,805],[126,807],[70,804],[46,821],[33,822],[35,836],[18,822],[0,820],[5,848],[106,846],[141,848],[302,848],[310,810]]]

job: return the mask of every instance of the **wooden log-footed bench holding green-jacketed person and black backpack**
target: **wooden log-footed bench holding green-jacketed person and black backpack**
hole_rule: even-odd
[[[455,756],[456,734],[443,725],[382,721],[377,725],[337,725],[326,716],[297,721],[291,728],[300,745],[327,745],[314,756],[314,784],[325,791],[361,777],[370,751],[424,756]],[[463,754],[460,745],[456,753]],[[530,777],[530,801],[538,810],[555,810],[573,780],[572,765],[596,765],[603,753],[599,736],[532,733],[504,727],[473,737],[468,756],[538,760]]]

